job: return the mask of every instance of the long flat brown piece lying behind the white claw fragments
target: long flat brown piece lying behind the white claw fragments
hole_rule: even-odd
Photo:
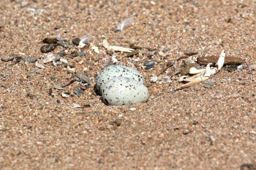
[[[198,57],[197,62],[200,65],[207,65],[208,63],[216,64],[218,61],[219,56],[208,56],[208,57]],[[245,60],[241,59],[240,57],[225,57],[225,65],[240,65],[244,63]]]

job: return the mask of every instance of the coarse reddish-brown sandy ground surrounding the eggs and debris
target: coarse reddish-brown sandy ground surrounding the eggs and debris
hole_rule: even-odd
[[[90,35],[100,50],[83,48],[81,58],[65,55],[66,66],[49,62],[45,69],[17,57],[0,61],[0,169],[256,169],[255,71],[223,68],[210,78],[211,88],[175,90],[179,75],[168,78],[173,67],[149,81],[189,50],[196,57],[226,50],[256,64],[256,1],[1,0],[0,16],[1,57],[39,57],[42,64],[49,55],[40,52],[42,40],[56,36],[72,45]],[[115,32],[125,18],[134,20]],[[106,106],[95,94],[95,76],[112,57],[102,34],[111,45],[144,47],[134,57],[114,55],[145,76],[147,103]],[[150,60],[157,63],[147,70]],[[72,68],[93,82],[80,96],[79,81],[52,88]]]

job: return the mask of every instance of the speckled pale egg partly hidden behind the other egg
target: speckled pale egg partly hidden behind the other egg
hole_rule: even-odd
[[[99,72],[96,79],[97,90],[101,92],[101,89],[105,83],[107,83],[111,78],[115,78],[118,76],[125,76],[128,78],[132,78],[141,83],[143,83],[144,81],[144,77],[138,71],[136,71],[135,69],[132,69],[131,67],[121,66],[121,65],[111,65],[111,66],[105,67],[104,69],[102,69],[102,71]]]

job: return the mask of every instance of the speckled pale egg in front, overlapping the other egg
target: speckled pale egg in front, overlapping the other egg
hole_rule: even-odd
[[[130,105],[147,102],[147,87],[137,80],[127,77],[116,77],[102,87],[102,99],[107,105]]]

